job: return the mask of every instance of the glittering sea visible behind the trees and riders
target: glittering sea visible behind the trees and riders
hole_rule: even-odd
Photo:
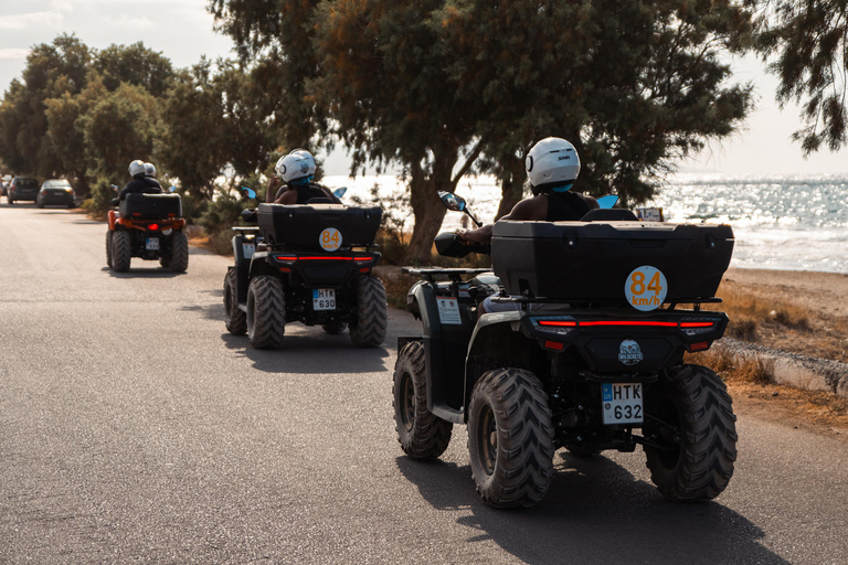
[[[348,186],[342,200],[380,199],[404,231],[413,225],[404,182],[393,175],[326,177],[329,186]],[[377,196],[372,194],[377,186]],[[481,222],[491,222],[500,190],[490,177],[460,181],[457,194]],[[675,173],[643,206],[662,210],[674,223],[725,223],[733,227],[731,267],[848,274],[848,173],[820,175],[731,175]],[[463,225],[448,212],[442,226]]]

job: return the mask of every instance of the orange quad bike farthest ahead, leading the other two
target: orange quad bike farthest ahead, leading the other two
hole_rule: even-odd
[[[113,185],[113,190],[117,186]],[[189,268],[189,238],[183,232],[182,202],[171,186],[168,194],[127,194],[113,199],[106,232],[106,265],[118,273],[129,270],[132,257],[159,259],[177,273]]]

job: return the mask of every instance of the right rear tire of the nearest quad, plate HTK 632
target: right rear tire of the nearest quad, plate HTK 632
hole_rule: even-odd
[[[736,460],[736,417],[721,379],[700,365],[665,371],[645,398],[646,438],[668,449],[644,446],[650,480],[676,502],[718,497]]]

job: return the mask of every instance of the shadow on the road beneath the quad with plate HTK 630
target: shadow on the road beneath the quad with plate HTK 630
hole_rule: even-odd
[[[250,359],[253,369],[266,373],[354,374],[388,371],[385,359],[389,352],[385,349],[356,348],[347,332],[331,335],[320,327],[286,327],[283,347],[277,350],[254,349],[247,335],[223,333],[221,339],[227,349],[242,352]]]

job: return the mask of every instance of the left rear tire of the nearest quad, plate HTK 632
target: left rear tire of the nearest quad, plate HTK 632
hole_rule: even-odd
[[[553,475],[553,426],[539,379],[522,369],[484,373],[468,407],[471,475],[496,508],[532,507]]]

